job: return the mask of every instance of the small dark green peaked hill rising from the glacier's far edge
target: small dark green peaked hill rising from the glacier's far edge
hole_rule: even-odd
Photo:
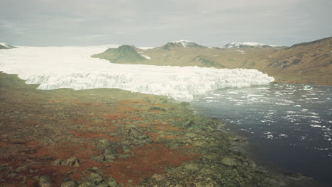
[[[118,48],[109,48],[105,52],[101,52],[92,57],[109,60],[110,62],[120,64],[138,64],[143,63],[149,57],[146,55],[140,55],[135,46],[121,45]]]

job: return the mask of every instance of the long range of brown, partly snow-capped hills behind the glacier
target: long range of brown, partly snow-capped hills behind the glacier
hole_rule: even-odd
[[[304,42],[292,47],[232,42],[223,48],[179,40],[148,50],[133,48],[133,61],[131,58],[114,60],[114,55],[110,54],[116,53],[115,51],[118,50],[109,49],[109,52],[93,57],[126,64],[258,69],[279,82],[332,84],[332,38]]]

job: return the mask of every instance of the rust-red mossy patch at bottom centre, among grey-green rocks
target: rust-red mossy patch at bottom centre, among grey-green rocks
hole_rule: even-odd
[[[138,184],[153,174],[162,174],[165,168],[179,166],[183,162],[196,160],[199,154],[190,154],[187,149],[170,150],[162,144],[150,144],[133,149],[135,156],[117,159],[111,165],[111,175],[120,183],[129,179]]]

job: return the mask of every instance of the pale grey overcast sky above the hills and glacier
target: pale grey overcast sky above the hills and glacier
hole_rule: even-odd
[[[0,0],[0,42],[293,45],[332,36],[331,0]]]

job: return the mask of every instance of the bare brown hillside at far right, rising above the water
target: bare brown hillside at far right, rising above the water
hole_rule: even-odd
[[[280,81],[332,84],[332,37],[292,45],[262,57],[260,69]]]

